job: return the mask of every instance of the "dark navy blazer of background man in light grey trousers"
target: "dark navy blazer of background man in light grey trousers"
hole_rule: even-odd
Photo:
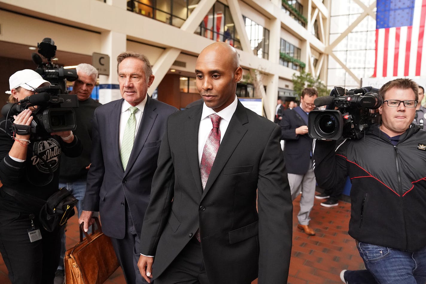
[[[296,135],[296,128],[308,125],[304,120],[308,119],[308,115],[305,113],[300,115],[296,112],[296,108],[300,109],[300,107],[295,107],[292,110],[284,110],[279,125],[281,126],[281,139],[285,140],[284,161],[288,173],[305,174],[309,169],[313,139],[308,134]]]

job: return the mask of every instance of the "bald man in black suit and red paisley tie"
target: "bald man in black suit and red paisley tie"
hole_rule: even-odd
[[[287,283],[292,203],[281,132],[239,102],[241,77],[236,49],[207,46],[196,62],[203,104],[167,121],[141,232],[138,265],[147,281]],[[210,153],[216,116],[221,142],[206,181],[200,159]]]

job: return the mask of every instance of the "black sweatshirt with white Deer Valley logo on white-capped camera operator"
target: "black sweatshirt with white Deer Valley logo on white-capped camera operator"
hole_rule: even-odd
[[[6,128],[6,120],[0,120],[0,181],[3,187],[46,200],[58,190],[60,153],[74,157],[80,155],[81,141],[74,136],[71,143],[65,143],[56,135],[31,141],[27,146],[26,160],[17,162],[9,156],[14,140],[9,133],[10,121],[7,123]],[[0,210],[33,212],[34,208],[30,207],[0,190]]]

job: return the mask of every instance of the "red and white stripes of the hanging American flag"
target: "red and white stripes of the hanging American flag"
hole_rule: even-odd
[[[412,26],[376,29],[373,77],[426,76],[425,22],[426,0],[415,0]]]

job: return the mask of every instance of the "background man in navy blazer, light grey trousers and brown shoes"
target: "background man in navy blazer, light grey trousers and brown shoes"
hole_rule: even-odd
[[[305,88],[300,96],[300,107],[287,109],[279,122],[281,139],[285,141],[284,161],[288,171],[291,199],[294,200],[302,191],[300,211],[297,214],[301,229],[307,235],[315,235],[309,225],[309,213],[314,206],[315,175],[312,168],[312,139],[308,136],[308,114],[314,110],[314,101],[318,92],[314,88]]]

